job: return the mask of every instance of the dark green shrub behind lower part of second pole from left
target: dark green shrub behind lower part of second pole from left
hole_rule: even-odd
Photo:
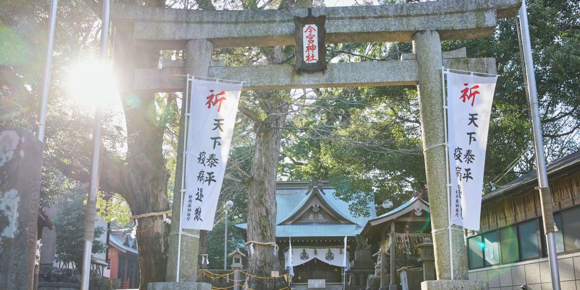
[[[82,267],[85,208],[83,194],[66,195],[63,202],[57,205],[52,219],[56,230],[56,260],[65,264],[74,263],[78,269]],[[103,227],[95,227],[93,254],[105,251],[104,242],[97,240],[105,232]]]

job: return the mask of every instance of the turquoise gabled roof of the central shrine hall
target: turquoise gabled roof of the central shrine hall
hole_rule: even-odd
[[[309,190],[309,182],[278,182],[276,190],[276,236],[281,237],[344,237],[360,233],[369,219],[376,218],[375,203],[367,204],[369,216],[357,216],[350,212],[353,202],[345,202],[335,196],[327,182]],[[309,222],[293,224],[298,215],[308,211],[314,198],[320,200],[324,209],[338,218],[340,223]],[[247,229],[247,224],[238,224]]]

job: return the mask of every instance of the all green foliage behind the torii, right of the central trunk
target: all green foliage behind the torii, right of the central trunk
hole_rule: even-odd
[[[554,160],[580,148],[580,101],[574,97],[580,93],[580,4],[532,1],[528,13],[546,153]],[[466,46],[469,57],[495,57],[501,75],[488,138],[487,191],[531,171],[535,163],[515,20],[501,20],[489,38],[443,43],[443,50]],[[411,52],[411,44],[331,44],[328,51],[338,62],[396,60]],[[315,92],[316,99],[301,103],[298,114],[289,117],[282,178],[329,179],[341,198],[359,205],[372,198],[361,193],[374,192],[376,204],[390,200],[397,206],[415,190],[426,192],[415,87]]]

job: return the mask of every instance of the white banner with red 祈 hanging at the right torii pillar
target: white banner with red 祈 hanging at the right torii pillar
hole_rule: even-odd
[[[447,72],[451,224],[479,230],[487,133],[497,75]]]

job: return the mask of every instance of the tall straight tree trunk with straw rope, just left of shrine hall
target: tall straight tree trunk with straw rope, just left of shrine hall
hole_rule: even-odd
[[[248,188],[248,242],[276,242],[276,176],[280,157],[280,140],[289,104],[278,93],[264,98],[268,117],[256,125],[252,178]],[[278,256],[271,245],[253,245],[249,254],[249,272],[253,276],[270,277],[270,271],[280,269]],[[279,281],[278,281],[279,282]],[[247,286],[256,290],[278,289],[274,279],[249,277]]]

